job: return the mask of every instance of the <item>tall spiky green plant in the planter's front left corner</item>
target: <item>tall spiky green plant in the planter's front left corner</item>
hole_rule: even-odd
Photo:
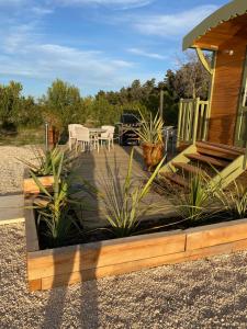
[[[37,211],[37,225],[43,220],[48,237],[49,246],[63,246],[66,240],[79,235],[82,231],[82,222],[75,216],[75,209],[85,205],[76,194],[78,190],[72,186],[69,177],[63,177],[64,155],[59,162],[52,158],[54,174],[53,193],[50,193],[38,180],[38,177],[31,171],[31,175],[41,190],[38,197],[34,200],[34,207]]]

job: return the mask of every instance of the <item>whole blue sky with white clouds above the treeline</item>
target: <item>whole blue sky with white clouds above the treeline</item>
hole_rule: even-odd
[[[182,37],[227,0],[0,0],[0,83],[40,97],[56,78],[83,95],[161,80]]]

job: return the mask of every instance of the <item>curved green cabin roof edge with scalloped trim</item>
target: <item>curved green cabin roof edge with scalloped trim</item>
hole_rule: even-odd
[[[212,27],[216,27],[222,22],[229,21],[231,19],[243,15],[247,12],[247,1],[246,0],[234,0],[224,7],[216,10],[213,14],[206,18],[202,23],[194,27],[187,36],[183,38],[182,48],[183,50],[193,46],[194,42],[202,35],[206,34]]]

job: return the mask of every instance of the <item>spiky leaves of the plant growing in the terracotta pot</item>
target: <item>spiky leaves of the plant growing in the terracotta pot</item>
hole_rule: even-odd
[[[137,131],[137,135],[139,136],[143,143],[147,144],[162,144],[162,128],[164,121],[159,116],[159,113],[155,115],[153,118],[153,114],[149,113],[149,120],[147,120],[143,113],[139,111],[141,116],[141,127]]]

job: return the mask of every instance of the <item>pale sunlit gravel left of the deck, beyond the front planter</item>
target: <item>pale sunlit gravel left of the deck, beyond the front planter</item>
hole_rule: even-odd
[[[0,146],[0,195],[22,191],[25,164],[20,161],[34,160],[35,147]]]

